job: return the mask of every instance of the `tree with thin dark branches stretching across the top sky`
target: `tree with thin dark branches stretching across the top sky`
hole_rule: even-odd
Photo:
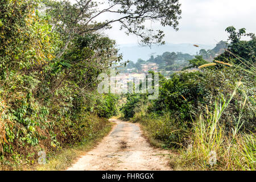
[[[143,45],[163,44],[164,32],[147,28],[145,23],[159,22],[178,30],[181,14],[179,0],[109,0],[104,3],[104,9],[93,0],[76,0],[74,4],[67,0],[43,2],[47,14],[51,15],[52,29],[59,31],[65,42],[57,57],[63,55],[75,36],[110,28],[114,22],[119,22],[127,35],[137,35]],[[118,18],[96,22],[98,16],[108,17],[108,14],[116,14]]]

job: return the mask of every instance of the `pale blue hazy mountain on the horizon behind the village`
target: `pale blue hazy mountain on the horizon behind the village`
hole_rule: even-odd
[[[136,63],[138,59],[147,60],[151,55],[162,55],[164,52],[182,52],[189,53],[190,55],[196,55],[200,49],[213,49],[215,46],[197,44],[199,47],[193,46],[193,44],[171,44],[167,43],[163,46],[141,47],[135,44],[119,45],[119,53],[123,54],[123,60],[130,60]]]

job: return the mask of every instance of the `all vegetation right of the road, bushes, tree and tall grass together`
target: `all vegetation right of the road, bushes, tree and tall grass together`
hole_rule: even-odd
[[[230,31],[230,38],[237,35]],[[176,159],[174,165],[189,169],[255,169],[256,49],[254,34],[249,35],[252,39],[248,41],[233,40],[213,63],[196,56],[184,68],[194,68],[192,71],[161,79],[156,100],[127,97],[123,116],[141,122],[158,146],[179,148],[180,161]],[[238,49],[241,52],[236,52]],[[207,161],[211,152],[218,157],[213,167]]]

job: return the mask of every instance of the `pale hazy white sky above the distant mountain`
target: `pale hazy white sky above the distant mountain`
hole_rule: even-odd
[[[228,26],[245,27],[247,32],[256,33],[255,0],[180,0],[180,3],[183,12],[179,31],[162,27],[166,42],[213,45],[228,38],[225,32]],[[153,27],[159,29],[160,25],[154,24]],[[106,34],[117,40],[117,44],[138,42],[136,36],[127,36],[119,31],[117,23]]]

